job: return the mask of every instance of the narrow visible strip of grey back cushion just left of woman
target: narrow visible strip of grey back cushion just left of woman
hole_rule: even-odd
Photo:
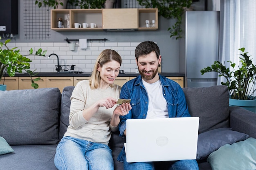
[[[67,131],[67,126],[69,126],[69,116],[70,116],[70,97],[75,86],[67,86],[63,88],[61,94],[61,120],[60,120],[60,139],[63,137],[64,133]]]

